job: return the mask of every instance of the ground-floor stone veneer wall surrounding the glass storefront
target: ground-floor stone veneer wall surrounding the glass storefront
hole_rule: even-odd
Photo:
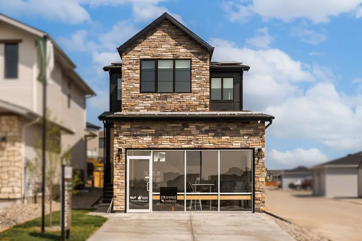
[[[114,155],[123,148],[262,148],[255,159],[255,211],[265,210],[265,123],[144,122],[114,123]],[[114,202],[117,212],[125,210],[125,154],[114,156]],[[256,155],[255,155],[256,156]]]

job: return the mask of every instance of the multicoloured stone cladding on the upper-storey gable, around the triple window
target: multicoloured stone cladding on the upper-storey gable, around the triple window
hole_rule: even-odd
[[[140,59],[191,59],[191,93],[140,93]],[[209,111],[210,52],[164,20],[122,53],[122,112]]]

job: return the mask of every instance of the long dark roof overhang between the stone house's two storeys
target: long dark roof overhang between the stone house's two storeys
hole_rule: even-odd
[[[145,121],[270,121],[275,117],[262,112],[104,112],[99,120],[109,122]]]

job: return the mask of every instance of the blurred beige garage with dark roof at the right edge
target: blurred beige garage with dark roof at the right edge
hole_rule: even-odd
[[[357,197],[361,161],[362,151],[313,167],[313,195]]]

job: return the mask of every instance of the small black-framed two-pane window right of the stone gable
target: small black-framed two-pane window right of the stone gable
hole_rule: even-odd
[[[211,100],[233,100],[234,78],[211,78]]]

